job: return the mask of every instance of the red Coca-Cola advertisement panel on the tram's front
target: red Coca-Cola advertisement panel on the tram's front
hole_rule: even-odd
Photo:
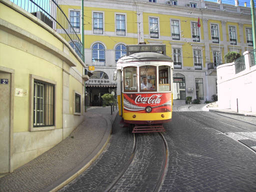
[[[125,112],[146,112],[146,106],[151,106],[151,112],[171,111],[171,93],[123,94],[123,109]]]

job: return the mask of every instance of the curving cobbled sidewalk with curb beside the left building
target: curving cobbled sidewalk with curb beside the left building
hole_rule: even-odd
[[[56,191],[85,170],[107,144],[110,107],[88,108],[84,121],[64,140],[0,178],[0,191]]]

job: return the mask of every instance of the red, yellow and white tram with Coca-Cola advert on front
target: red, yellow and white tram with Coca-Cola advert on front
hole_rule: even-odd
[[[132,132],[164,131],[162,123],[172,115],[172,70],[165,44],[126,46],[126,56],[118,59],[113,79],[119,115],[133,125]]]

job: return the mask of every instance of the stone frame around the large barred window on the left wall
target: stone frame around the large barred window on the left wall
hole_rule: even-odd
[[[50,83],[54,86],[54,108],[53,108],[53,122],[52,126],[35,126],[33,124],[33,105],[34,105],[34,80],[39,80],[45,83]],[[37,76],[34,74],[29,75],[29,131],[38,131],[38,130],[52,130],[56,128],[56,81],[50,80],[41,76]]]

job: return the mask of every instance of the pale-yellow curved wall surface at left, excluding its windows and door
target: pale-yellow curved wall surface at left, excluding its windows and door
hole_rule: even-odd
[[[15,71],[10,144],[0,142],[0,148],[10,151],[10,166],[2,172],[11,172],[60,142],[82,121],[84,113],[73,111],[73,91],[81,94],[82,103],[85,65],[59,34],[30,13],[7,0],[0,0],[0,10],[0,69]],[[33,119],[31,75],[54,82],[54,126],[29,128]],[[1,160],[6,161],[6,156]]]

